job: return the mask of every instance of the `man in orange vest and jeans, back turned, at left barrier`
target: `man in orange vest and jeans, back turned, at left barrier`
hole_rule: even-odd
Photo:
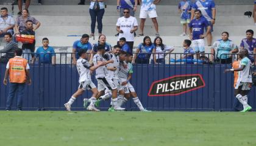
[[[29,63],[21,57],[22,50],[15,49],[15,57],[11,58],[6,66],[4,74],[4,85],[7,85],[7,78],[9,76],[9,96],[7,97],[5,110],[9,111],[12,106],[13,97],[17,96],[17,110],[21,111],[25,83],[31,84],[29,77]]]

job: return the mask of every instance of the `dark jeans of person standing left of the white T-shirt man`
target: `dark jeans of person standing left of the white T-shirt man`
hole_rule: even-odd
[[[89,10],[90,15],[91,15],[91,33],[94,33],[95,31],[95,26],[96,26],[96,21],[98,23],[98,31],[99,33],[102,33],[102,18],[105,13],[105,9],[100,9],[100,10]]]

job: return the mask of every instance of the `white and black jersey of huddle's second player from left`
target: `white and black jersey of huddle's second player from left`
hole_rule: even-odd
[[[96,66],[98,61],[105,61],[105,59],[100,54],[96,54],[93,57],[93,64]],[[96,78],[104,78],[107,76],[107,67],[106,66],[99,66],[96,69]]]

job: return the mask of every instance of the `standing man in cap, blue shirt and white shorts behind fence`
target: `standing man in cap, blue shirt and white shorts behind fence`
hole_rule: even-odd
[[[195,50],[196,58],[199,59],[200,54],[199,52],[204,54],[204,38],[210,32],[211,27],[209,26],[207,20],[203,18],[201,10],[194,11],[195,19],[191,21],[189,24],[190,27],[190,39],[192,41],[192,48]],[[207,32],[204,35],[204,28],[207,27]]]

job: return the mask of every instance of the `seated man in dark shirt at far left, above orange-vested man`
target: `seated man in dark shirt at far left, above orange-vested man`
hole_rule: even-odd
[[[11,33],[5,33],[4,40],[6,44],[4,49],[0,50],[0,63],[7,63],[10,58],[14,57],[14,50],[18,49],[18,45],[12,41]],[[2,56],[2,53],[5,53],[5,55]]]

